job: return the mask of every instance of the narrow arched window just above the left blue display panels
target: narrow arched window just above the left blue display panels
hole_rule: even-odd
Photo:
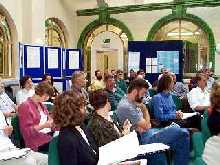
[[[46,20],[45,40],[48,46],[67,47],[66,37],[60,21],[56,18]]]

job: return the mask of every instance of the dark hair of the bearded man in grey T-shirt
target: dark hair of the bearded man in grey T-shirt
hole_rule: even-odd
[[[148,83],[144,79],[135,79],[130,82],[128,86],[128,93],[131,93],[134,89],[140,90],[142,88],[148,89]]]

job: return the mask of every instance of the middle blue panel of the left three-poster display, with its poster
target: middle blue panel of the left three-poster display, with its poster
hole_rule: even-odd
[[[45,47],[45,73],[54,78],[62,77],[62,49],[59,47]]]

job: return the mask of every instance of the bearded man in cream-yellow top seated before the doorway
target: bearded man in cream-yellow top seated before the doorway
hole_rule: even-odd
[[[92,82],[92,84],[89,87],[89,91],[91,92],[105,88],[105,84],[102,79],[102,72],[100,70],[95,71],[95,77],[96,79]]]

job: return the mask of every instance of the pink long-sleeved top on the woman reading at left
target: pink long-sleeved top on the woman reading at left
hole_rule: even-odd
[[[39,103],[43,112],[48,116],[47,108]],[[51,136],[37,131],[34,126],[40,123],[40,112],[37,109],[37,104],[29,97],[18,107],[19,126],[21,134],[24,138],[26,147],[34,151],[38,147],[50,142]]]

